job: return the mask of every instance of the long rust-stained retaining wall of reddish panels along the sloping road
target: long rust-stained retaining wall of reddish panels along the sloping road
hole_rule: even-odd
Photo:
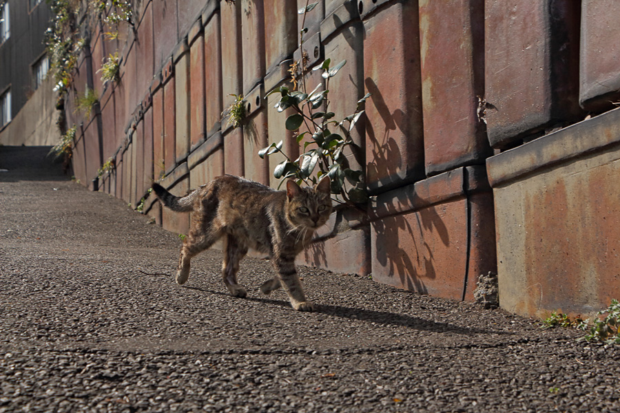
[[[502,151],[517,147],[527,158],[546,144],[524,142],[555,142],[551,137],[557,135],[545,135],[582,120],[586,111],[599,114],[613,107],[609,100],[620,96],[620,69],[610,63],[618,61],[619,3],[440,3],[318,0],[308,15],[307,64],[347,59],[330,83],[333,112],[346,116],[359,98],[372,94],[353,139],[373,199],[370,222],[351,213],[334,215],[300,262],[372,273],[379,282],[453,299],[472,299],[477,277],[499,270],[500,302],[510,310],[535,314],[570,302],[562,308],[585,313],[606,306],[610,297],[592,292],[599,288],[593,278],[580,284],[588,292],[579,299],[559,290],[558,299],[545,301],[535,298],[541,297],[541,288],[531,286],[561,253],[583,261],[583,252],[570,253],[575,244],[593,248],[591,232],[570,242],[559,242],[561,235],[554,232],[554,223],[566,233],[579,224],[584,209],[577,204],[592,209],[588,231],[594,231],[592,220],[603,220],[597,221],[601,229],[611,220],[615,228],[612,198],[601,192],[609,184],[600,183],[614,180],[612,158],[603,156],[599,169],[592,169],[591,155],[583,154],[590,163],[572,162],[572,169],[549,169],[543,177],[521,171],[512,154],[517,152]],[[280,139],[289,153],[298,148],[283,127],[286,116],[263,96],[289,82],[291,59],[301,56],[301,20],[293,6],[304,5],[302,0],[297,5],[151,0],[141,2],[136,30],[125,30],[118,40],[106,39],[105,28],[94,28],[76,74],[77,89],[87,84],[98,89],[101,103],[91,119],[70,113],[71,102],[67,106],[70,122],[81,125],[74,149],[76,176],[92,186],[102,162],[114,159],[116,169],[99,178],[99,189],[134,206],[144,197],[145,213],[179,233],[186,231],[187,218],[161,211],[147,196],[152,180],[166,176],[163,184],[178,194],[220,173],[275,186],[274,164],[256,152]],[[123,58],[121,81],[104,87],[96,73],[103,56],[115,51]],[[317,73],[307,76],[311,88],[320,81]],[[242,129],[220,119],[231,94],[247,99],[249,123]],[[590,129],[595,122],[580,125]],[[579,153],[593,150],[591,137],[575,139],[590,142]],[[579,168],[588,171],[583,176],[600,172],[577,184],[569,177],[579,176]],[[567,180],[561,185],[566,202],[577,202],[577,193],[581,200],[569,207],[555,195],[544,195],[549,180]],[[586,196],[584,191],[595,193]],[[526,192],[527,205],[521,199]],[[605,213],[597,209],[603,200]],[[562,215],[569,210],[570,217]],[[526,233],[526,224],[538,231],[537,239]],[[547,228],[553,231],[542,231]],[[535,242],[539,246],[533,247]],[[596,256],[608,264],[592,264],[588,271],[601,285],[611,286],[614,266],[601,254],[587,262],[595,263]],[[579,274],[584,266],[579,264]]]

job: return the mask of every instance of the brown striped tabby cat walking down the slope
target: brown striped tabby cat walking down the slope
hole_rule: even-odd
[[[276,277],[263,283],[260,291],[269,294],[282,286],[293,308],[313,310],[302,290],[295,257],[329,218],[329,177],[325,176],[315,189],[302,188],[289,180],[286,191],[230,175],[219,176],[183,198],[172,195],[159,184],[153,184],[153,189],[172,211],[192,213],[178,263],[178,284],[187,281],[192,257],[222,238],[222,277],[232,295],[247,295],[245,288],[237,283],[237,271],[248,248],[254,248],[269,254],[276,271]]]

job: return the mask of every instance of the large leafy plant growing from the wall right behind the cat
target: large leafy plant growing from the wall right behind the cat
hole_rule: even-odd
[[[347,147],[352,152],[360,150],[351,138],[351,131],[364,114],[363,106],[370,94],[358,100],[353,114],[342,120],[335,119],[335,114],[329,112],[331,103],[329,82],[347,61],[343,60],[337,65],[331,65],[331,59],[326,59],[313,69],[322,71],[324,85],[320,83],[311,92],[307,92],[305,75],[309,71],[306,67],[307,54],[303,49],[303,35],[307,32],[307,28],[303,28],[303,25],[306,14],[317,4],[307,2],[305,7],[298,10],[299,14],[304,15],[300,31],[302,59],[293,62],[289,70],[293,74],[293,89],[281,86],[267,94],[267,96],[280,94],[280,100],[275,106],[278,112],[284,112],[289,108],[295,112],[287,117],[285,126],[289,131],[296,133],[298,144],[303,145],[303,153],[296,159],[290,158],[282,151],[283,142],[280,140],[280,142],[273,142],[268,147],[260,149],[258,156],[265,158],[278,152],[285,156],[285,160],[273,169],[273,176],[278,179],[293,178],[299,183],[316,184],[322,176],[329,176],[331,193],[336,195],[335,200],[356,207],[368,200],[364,185],[364,172],[361,168],[355,169],[351,166],[345,151]],[[297,85],[300,85],[301,91],[295,90]],[[303,131],[300,131],[302,127]],[[317,170],[316,173],[315,170]]]

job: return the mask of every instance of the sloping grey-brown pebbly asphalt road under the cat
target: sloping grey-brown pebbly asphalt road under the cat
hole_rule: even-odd
[[[579,332],[300,268],[316,313],[220,282],[220,253],[0,147],[2,412],[619,412],[617,348]]]

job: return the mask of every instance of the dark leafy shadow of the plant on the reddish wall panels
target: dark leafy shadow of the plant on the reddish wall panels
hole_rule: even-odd
[[[375,130],[374,125],[366,122],[366,145],[371,148],[366,160],[366,174],[369,181],[391,188],[411,174],[411,166],[402,158],[399,142],[391,136],[397,130],[403,136],[409,134],[409,116],[400,108],[390,110],[380,87],[372,78],[366,78],[365,85],[366,90],[372,94],[373,112],[380,116],[384,125],[383,130]],[[406,139],[411,142],[411,137],[406,136]],[[405,216],[398,214],[396,204],[421,207],[414,207]],[[383,273],[397,279],[391,284],[400,284],[408,290],[427,294],[428,288],[424,281],[434,280],[438,276],[433,250],[439,244],[433,248],[432,241],[429,241],[438,239],[444,246],[450,246],[444,219],[437,213],[437,207],[424,206],[424,202],[415,193],[405,195],[402,192],[402,195],[393,199],[392,204],[386,203],[380,207],[387,209],[382,213],[387,216],[371,223],[375,233],[375,260],[386,268]]]

